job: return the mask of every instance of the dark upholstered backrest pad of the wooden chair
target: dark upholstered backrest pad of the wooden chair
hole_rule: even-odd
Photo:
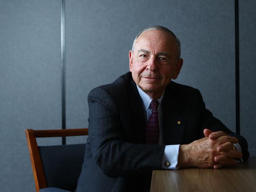
[[[39,146],[48,187],[76,189],[86,144]]]

